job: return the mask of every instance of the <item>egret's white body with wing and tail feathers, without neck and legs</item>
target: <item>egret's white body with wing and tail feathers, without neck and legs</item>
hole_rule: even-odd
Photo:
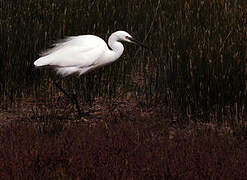
[[[42,53],[35,66],[53,66],[58,74],[83,74],[97,66],[108,47],[103,39],[93,35],[68,37]]]

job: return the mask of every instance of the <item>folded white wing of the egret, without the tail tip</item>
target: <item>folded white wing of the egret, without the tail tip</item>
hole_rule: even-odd
[[[47,65],[89,67],[104,55],[106,48],[107,45],[103,39],[92,35],[82,35],[68,37],[58,42],[54,48],[44,52],[42,56],[49,61]]]

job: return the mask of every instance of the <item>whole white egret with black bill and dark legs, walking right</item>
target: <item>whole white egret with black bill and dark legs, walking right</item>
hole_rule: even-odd
[[[93,69],[102,67],[116,61],[123,53],[124,46],[121,42],[130,42],[148,48],[143,43],[135,40],[125,31],[116,31],[108,39],[107,44],[103,39],[94,35],[71,36],[54,44],[54,47],[41,54],[34,62],[36,67],[50,66],[62,77],[78,74],[79,76]],[[82,113],[78,105],[75,91],[70,96],[58,83],[56,87],[61,90],[72,103],[76,104],[78,115]]]

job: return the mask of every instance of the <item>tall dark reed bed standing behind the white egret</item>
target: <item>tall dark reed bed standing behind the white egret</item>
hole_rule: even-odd
[[[96,34],[107,41],[119,29],[151,51],[128,45],[120,60],[78,78],[83,102],[97,97],[159,104],[175,120],[246,119],[247,4],[237,0],[4,1],[0,0],[0,96],[3,108],[16,98],[58,96],[55,73],[37,70],[42,50],[66,36]]]

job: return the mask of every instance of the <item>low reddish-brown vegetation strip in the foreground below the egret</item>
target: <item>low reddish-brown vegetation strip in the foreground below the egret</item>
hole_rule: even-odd
[[[247,176],[246,140],[209,127],[171,130],[154,119],[93,126],[13,122],[0,135],[0,176],[5,179]]]

